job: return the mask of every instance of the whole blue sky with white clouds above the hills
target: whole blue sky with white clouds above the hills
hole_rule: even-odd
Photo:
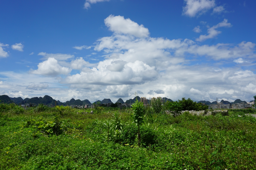
[[[256,1],[1,1],[0,95],[253,100]]]

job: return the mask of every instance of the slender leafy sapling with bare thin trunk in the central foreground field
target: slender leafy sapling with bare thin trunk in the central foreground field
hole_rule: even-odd
[[[141,134],[140,134],[140,126],[144,122],[144,105],[142,102],[139,102],[137,99],[135,103],[131,105],[133,108],[133,123],[138,126],[138,146],[140,146]]]

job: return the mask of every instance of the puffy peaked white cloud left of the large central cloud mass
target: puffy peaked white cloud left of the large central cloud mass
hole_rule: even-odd
[[[31,70],[30,73],[46,76],[67,75],[71,72],[71,68],[61,67],[55,58],[48,58],[46,61],[39,63],[37,70]]]

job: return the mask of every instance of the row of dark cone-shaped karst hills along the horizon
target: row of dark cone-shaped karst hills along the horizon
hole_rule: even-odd
[[[115,103],[127,103],[127,104],[132,104],[132,103],[135,103],[136,99],[138,99],[138,101],[141,101],[141,97],[139,96],[136,96],[134,97],[133,99],[129,99],[129,100],[126,100],[125,102],[123,101],[123,99],[119,98]],[[162,98],[165,102],[166,101],[172,101],[171,99],[168,99],[166,97],[163,97]],[[0,101],[2,101],[3,103],[16,103],[16,104],[26,104],[26,103],[33,103],[34,105],[38,105],[38,104],[45,104],[45,105],[63,105],[63,106],[67,106],[67,105],[92,105],[92,103],[85,99],[83,101],[81,101],[80,99],[71,99],[70,101],[66,101],[64,103],[62,103],[61,101],[56,101],[55,99],[53,99],[52,97],[48,96],[48,95],[45,95],[44,97],[32,97],[31,99],[29,98],[25,98],[25,99],[22,99],[21,97],[9,97],[8,95],[0,95]],[[147,99],[148,101],[148,104],[150,103],[151,100]],[[100,102],[100,104],[103,104],[103,103],[113,103],[110,99],[103,99],[102,101],[98,100],[97,102]],[[246,101],[241,101],[240,99],[236,99],[234,102],[229,102],[229,101],[220,101],[224,104],[230,104],[232,105],[233,103],[241,103],[241,102],[245,102],[247,103]],[[253,102],[250,101],[250,102]],[[96,101],[94,102],[96,103]],[[202,101],[198,101],[197,103],[205,103],[206,105],[210,105],[210,104],[217,104],[216,101],[213,101],[213,102],[210,102],[210,101],[205,101],[205,100],[202,100]]]

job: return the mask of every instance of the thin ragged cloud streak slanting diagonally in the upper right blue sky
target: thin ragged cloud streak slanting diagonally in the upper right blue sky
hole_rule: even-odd
[[[219,27],[231,27],[232,25],[230,23],[228,23],[228,20],[227,19],[224,19],[222,22],[220,22],[219,24],[217,25],[214,25],[210,28],[207,29],[207,32],[208,32],[208,35],[200,35],[199,38],[196,39],[196,41],[205,41],[207,39],[210,39],[210,38],[213,38],[213,37],[216,37],[218,34],[221,33],[221,31],[218,31],[216,30],[217,28]]]

